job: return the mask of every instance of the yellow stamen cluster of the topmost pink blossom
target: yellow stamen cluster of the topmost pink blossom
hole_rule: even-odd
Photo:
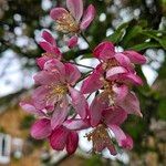
[[[64,13],[58,21],[56,21],[56,30],[63,33],[77,33],[79,25],[70,13]]]

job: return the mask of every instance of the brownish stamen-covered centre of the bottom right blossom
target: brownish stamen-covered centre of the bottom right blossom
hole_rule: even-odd
[[[112,138],[108,134],[108,131],[102,124],[100,124],[91,133],[86,134],[85,137],[87,138],[89,142],[92,141],[94,152],[100,152],[104,147],[112,144]]]

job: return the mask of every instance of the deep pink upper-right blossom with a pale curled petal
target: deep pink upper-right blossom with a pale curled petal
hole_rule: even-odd
[[[101,61],[101,64],[83,82],[82,93],[92,93],[102,89],[105,81],[142,85],[142,79],[136,75],[134,63],[143,64],[146,59],[135,51],[115,52],[111,42],[103,42],[94,49],[94,56]]]

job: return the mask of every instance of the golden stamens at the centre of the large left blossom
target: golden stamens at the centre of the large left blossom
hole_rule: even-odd
[[[56,102],[61,101],[68,92],[68,87],[65,85],[51,84],[48,87],[50,90],[49,95],[46,96],[48,100],[55,100]]]

